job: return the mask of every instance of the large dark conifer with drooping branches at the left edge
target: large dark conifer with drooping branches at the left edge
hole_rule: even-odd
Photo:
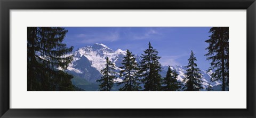
[[[27,28],[27,90],[73,90],[66,69],[73,47],[61,43],[68,31],[59,27]]]

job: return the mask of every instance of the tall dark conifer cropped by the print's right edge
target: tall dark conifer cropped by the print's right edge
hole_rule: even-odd
[[[213,27],[209,31],[212,33],[206,40],[209,47],[205,56],[207,60],[212,60],[211,66],[208,70],[214,70],[211,74],[211,81],[222,81],[222,90],[225,91],[225,86],[228,86],[228,45],[229,45],[229,28],[228,27]]]

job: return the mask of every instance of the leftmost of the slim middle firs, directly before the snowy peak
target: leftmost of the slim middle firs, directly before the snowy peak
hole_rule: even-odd
[[[110,91],[114,85],[114,78],[116,78],[116,72],[114,64],[106,58],[106,68],[102,69],[100,72],[103,75],[101,79],[97,82],[101,83],[99,90],[101,91]]]

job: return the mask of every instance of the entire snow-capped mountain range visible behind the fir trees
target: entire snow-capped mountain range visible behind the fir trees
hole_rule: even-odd
[[[115,64],[115,69],[117,72],[121,70],[122,60],[126,56],[126,51],[117,49],[112,50],[105,46],[104,44],[93,44],[92,46],[86,46],[77,49],[72,55],[74,55],[73,62],[67,68],[69,74],[74,76],[72,82],[74,85],[87,85],[90,83],[95,83],[97,79],[100,79],[101,72],[105,68],[106,58],[108,57],[110,61]],[[140,57],[135,55],[136,61],[140,61]],[[162,66],[161,71],[162,77],[165,77],[168,66]],[[185,66],[171,66],[171,69],[175,69],[179,76],[178,81],[182,81],[185,77],[186,68]],[[210,74],[211,72],[201,71],[203,75],[203,87],[206,88],[208,83],[211,86],[216,86],[221,84],[219,81],[211,82]],[[121,78],[117,78],[115,81],[122,81]]]

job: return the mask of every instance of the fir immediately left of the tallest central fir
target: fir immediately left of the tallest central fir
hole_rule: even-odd
[[[129,50],[126,51],[126,56],[122,62],[122,68],[119,72],[120,77],[124,77],[124,80],[120,84],[124,84],[124,87],[120,88],[121,91],[138,91],[141,89],[138,78],[138,63],[135,61],[134,55]]]

